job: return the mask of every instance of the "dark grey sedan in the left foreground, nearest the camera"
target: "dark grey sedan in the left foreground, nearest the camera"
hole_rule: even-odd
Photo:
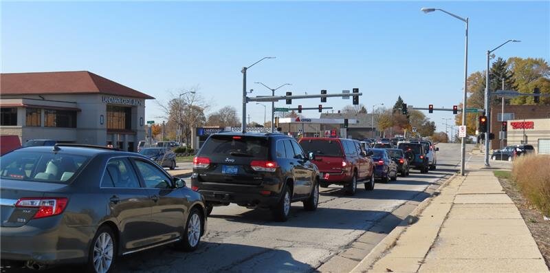
[[[3,155],[0,177],[2,260],[33,269],[108,272],[159,245],[195,250],[207,226],[203,197],[137,153],[28,147]]]

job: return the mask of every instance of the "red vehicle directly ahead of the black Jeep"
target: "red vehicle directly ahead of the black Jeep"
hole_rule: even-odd
[[[313,161],[321,173],[320,186],[344,186],[348,195],[354,195],[358,183],[366,190],[374,189],[373,160],[370,150],[358,140],[343,138],[302,138],[300,146],[314,153]]]

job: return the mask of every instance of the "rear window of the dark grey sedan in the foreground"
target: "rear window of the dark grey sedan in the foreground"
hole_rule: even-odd
[[[0,177],[67,183],[88,160],[89,157],[67,153],[13,151],[2,156]]]

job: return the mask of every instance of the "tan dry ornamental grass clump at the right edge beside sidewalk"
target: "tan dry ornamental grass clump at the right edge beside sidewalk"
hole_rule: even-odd
[[[529,203],[550,216],[550,155],[517,157],[511,176]]]

